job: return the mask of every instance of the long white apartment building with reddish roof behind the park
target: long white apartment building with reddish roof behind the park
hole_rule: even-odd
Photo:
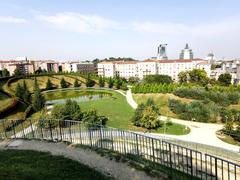
[[[164,74],[178,81],[180,72],[193,69],[203,69],[210,77],[211,65],[202,59],[101,62],[98,64],[98,75],[104,77],[119,76],[127,79],[138,77],[143,79],[146,75]]]

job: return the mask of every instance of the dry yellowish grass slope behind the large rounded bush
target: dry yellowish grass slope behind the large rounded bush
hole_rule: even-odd
[[[148,98],[152,98],[155,101],[155,103],[158,105],[158,107],[160,108],[160,113],[162,115],[173,117],[173,118],[178,118],[178,116],[169,109],[169,107],[168,107],[168,99],[169,98],[181,100],[182,102],[185,102],[185,103],[190,103],[190,102],[194,101],[192,99],[180,98],[173,94],[162,94],[162,93],[133,94],[133,98],[138,104],[146,103]]]

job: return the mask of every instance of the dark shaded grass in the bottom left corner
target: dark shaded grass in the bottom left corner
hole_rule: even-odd
[[[77,161],[29,150],[0,151],[0,179],[110,179]]]

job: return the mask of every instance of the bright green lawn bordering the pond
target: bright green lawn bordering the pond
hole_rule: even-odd
[[[147,131],[147,129],[142,127],[136,127],[131,122],[131,118],[134,115],[134,109],[127,103],[126,98],[111,90],[97,90],[97,89],[87,89],[87,92],[101,92],[101,93],[111,93],[112,96],[98,99],[90,100],[86,102],[79,102],[79,105],[83,111],[88,111],[91,109],[97,110],[99,115],[104,115],[109,118],[107,121],[107,126],[127,129],[132,131]],[[66,90],[64,91],[54,91],[45,93],[46,100],[61,99],[66,97],[76,97],[79,95],[85,95],[86,89],[81,90]],[[32,118],[39,117],[39,113],[32,115]],[[185,126],[180,124],[173,124],[169,126],[163,126],[156,130],[151,130],[153,133],[166,133],[166,134],[187,134],[189,129],[185,129]]]

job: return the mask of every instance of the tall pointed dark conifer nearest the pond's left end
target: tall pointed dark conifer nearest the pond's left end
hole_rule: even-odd
[[[45,98],[41,94],[37,80],[34,82],[34,94],[32,98],[32,106],[35,111],[40,111],[45,105]]]

